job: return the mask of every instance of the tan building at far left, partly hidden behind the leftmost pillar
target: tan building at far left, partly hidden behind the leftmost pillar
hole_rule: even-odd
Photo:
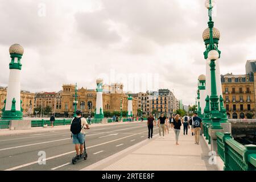
[[[0,86],[0,114],[2,114],[2,109],[5,106],[6,94],[7,88]],[[20,100],[22,101],[23,117],[30,117],[33,115],[34,98],[34,93],[25,90],[20,91]]]

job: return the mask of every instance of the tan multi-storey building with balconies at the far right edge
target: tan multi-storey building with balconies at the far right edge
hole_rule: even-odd
[[[228,73],[221,75],[222,94],[226,113],[229,118],[247,118],[247,113],[254,114],[255,118],[255,68],[251,69],[251,63],[247,61],[245,75],[233,75]]]

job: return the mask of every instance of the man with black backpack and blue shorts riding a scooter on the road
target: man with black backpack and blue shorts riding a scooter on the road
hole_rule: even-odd
[[[85,139],[85,126],[89,129],[89,125],[85,118],[82,118],[82,111],[76,111],[76,117],[71,121],[71,132],[73,137],[73,144],[75,144],[76,158],[82,158],[84,155],[84,139]],[[80,153],[79,153],[80,148]]]

